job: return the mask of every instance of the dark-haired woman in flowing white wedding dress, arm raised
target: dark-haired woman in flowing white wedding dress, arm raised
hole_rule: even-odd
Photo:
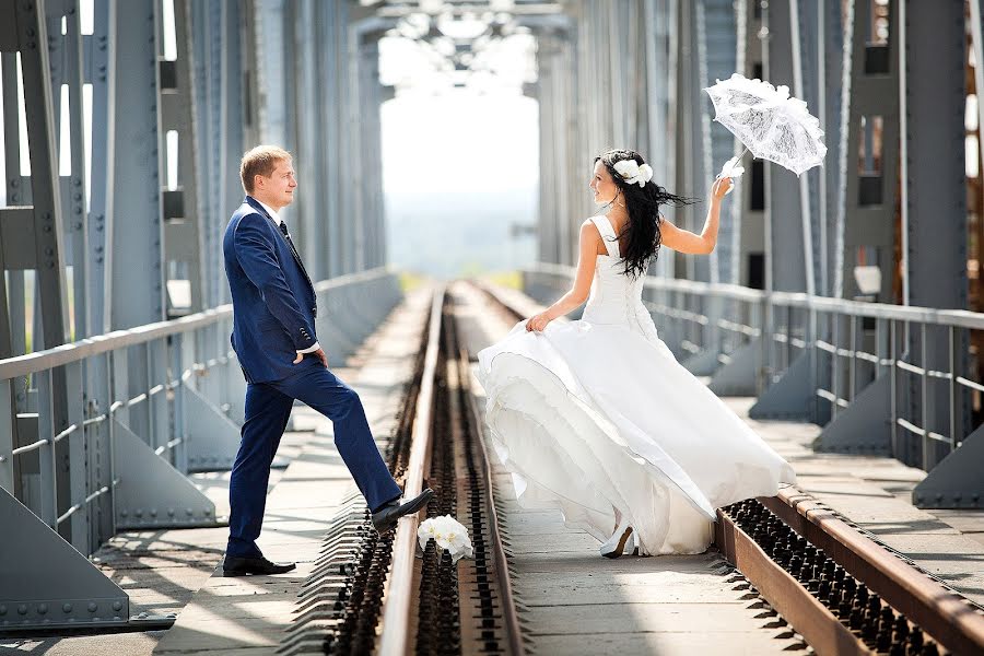
[[[485,421],[519,503],[558,507],[608,558],[701,553],[715,508],[774,495],[796,479],[676,361],[642,303],[660,245],[714,249],[731,180],[714,183],[698,235],[659,215],[660,204],[687,200],[652,177],[634,151],[596,157],[590,188],[608,212],[581,226],[573,286],[479,353]],[[581,320],[552,323],[585,298]]]

